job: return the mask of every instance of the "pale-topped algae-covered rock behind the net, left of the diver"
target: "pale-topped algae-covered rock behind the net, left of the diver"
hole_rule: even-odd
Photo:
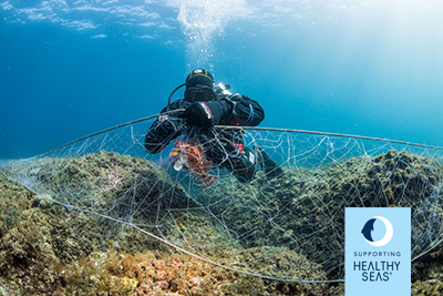
[[[66,207],[92,210],[131,221],[135,218],[134,206],[146,210],[138,212],[145,220],[156,216],[158,208],[197,206],[163,167],[114,152],[101,151],[71,159],[43,157],[12,165],[9,170],[11,178],[24,182],[27,187],[40,193],[35,205],[44,207],[50,204],[43,202],[48,198],[41,197],[54,196]]]

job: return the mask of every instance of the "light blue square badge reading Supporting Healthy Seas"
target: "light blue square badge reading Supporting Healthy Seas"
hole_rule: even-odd
[[[411,295],[411,208],[347,207],[347,296]]]

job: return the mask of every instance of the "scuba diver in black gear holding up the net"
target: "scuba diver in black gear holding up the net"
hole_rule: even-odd
[[[184,99],[171,102],[173,94],[186,85]],[[161,152],[171,140],[185,134],[203,145],[207,159],[219,169],[227,169],[241,183],[250,182],[261,166],[267,178],[284,174],[281,167],[258,145],[253,150],[243,144],[240,129],[216,130],[214,125],[256,126],[265,119],[262,108],[255,100],[238,93],[229,85],[215,85],[214,76],[204,69],[192,71],[186,82],[169,95],[168,104],[153,123],[145,137],[148,153]],[[184,110],[184,111],[183,111]]]

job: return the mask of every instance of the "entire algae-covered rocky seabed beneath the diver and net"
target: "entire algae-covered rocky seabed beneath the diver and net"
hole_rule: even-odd
[[[0,295],[343,295],[328,279],[343,273],[344,207],[411,205],[413,254],[434,247],[412,264],[412,295],[442,293],[441,163],[388,151],[284,169],[193,197],[154,163],[105,151],[3,167],[39,194],[0,174]]]

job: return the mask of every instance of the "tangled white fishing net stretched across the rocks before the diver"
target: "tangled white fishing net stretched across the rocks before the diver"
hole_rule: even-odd
[[[124,228],[138,229],[202,259],[267,278],[342,280],[346,207],[411,207],[413,259],[442,239],[439,149],[246,129],[244,144],[260,145],[285,174],[269,178],[258,171],[244,184],[214,167],[217,181],[203,190],[186,170],[174,170],[172,144],[159,154],[145,152],[154,120],[7,163],[1,171],[68,211],[90,215],[103,242]]]

